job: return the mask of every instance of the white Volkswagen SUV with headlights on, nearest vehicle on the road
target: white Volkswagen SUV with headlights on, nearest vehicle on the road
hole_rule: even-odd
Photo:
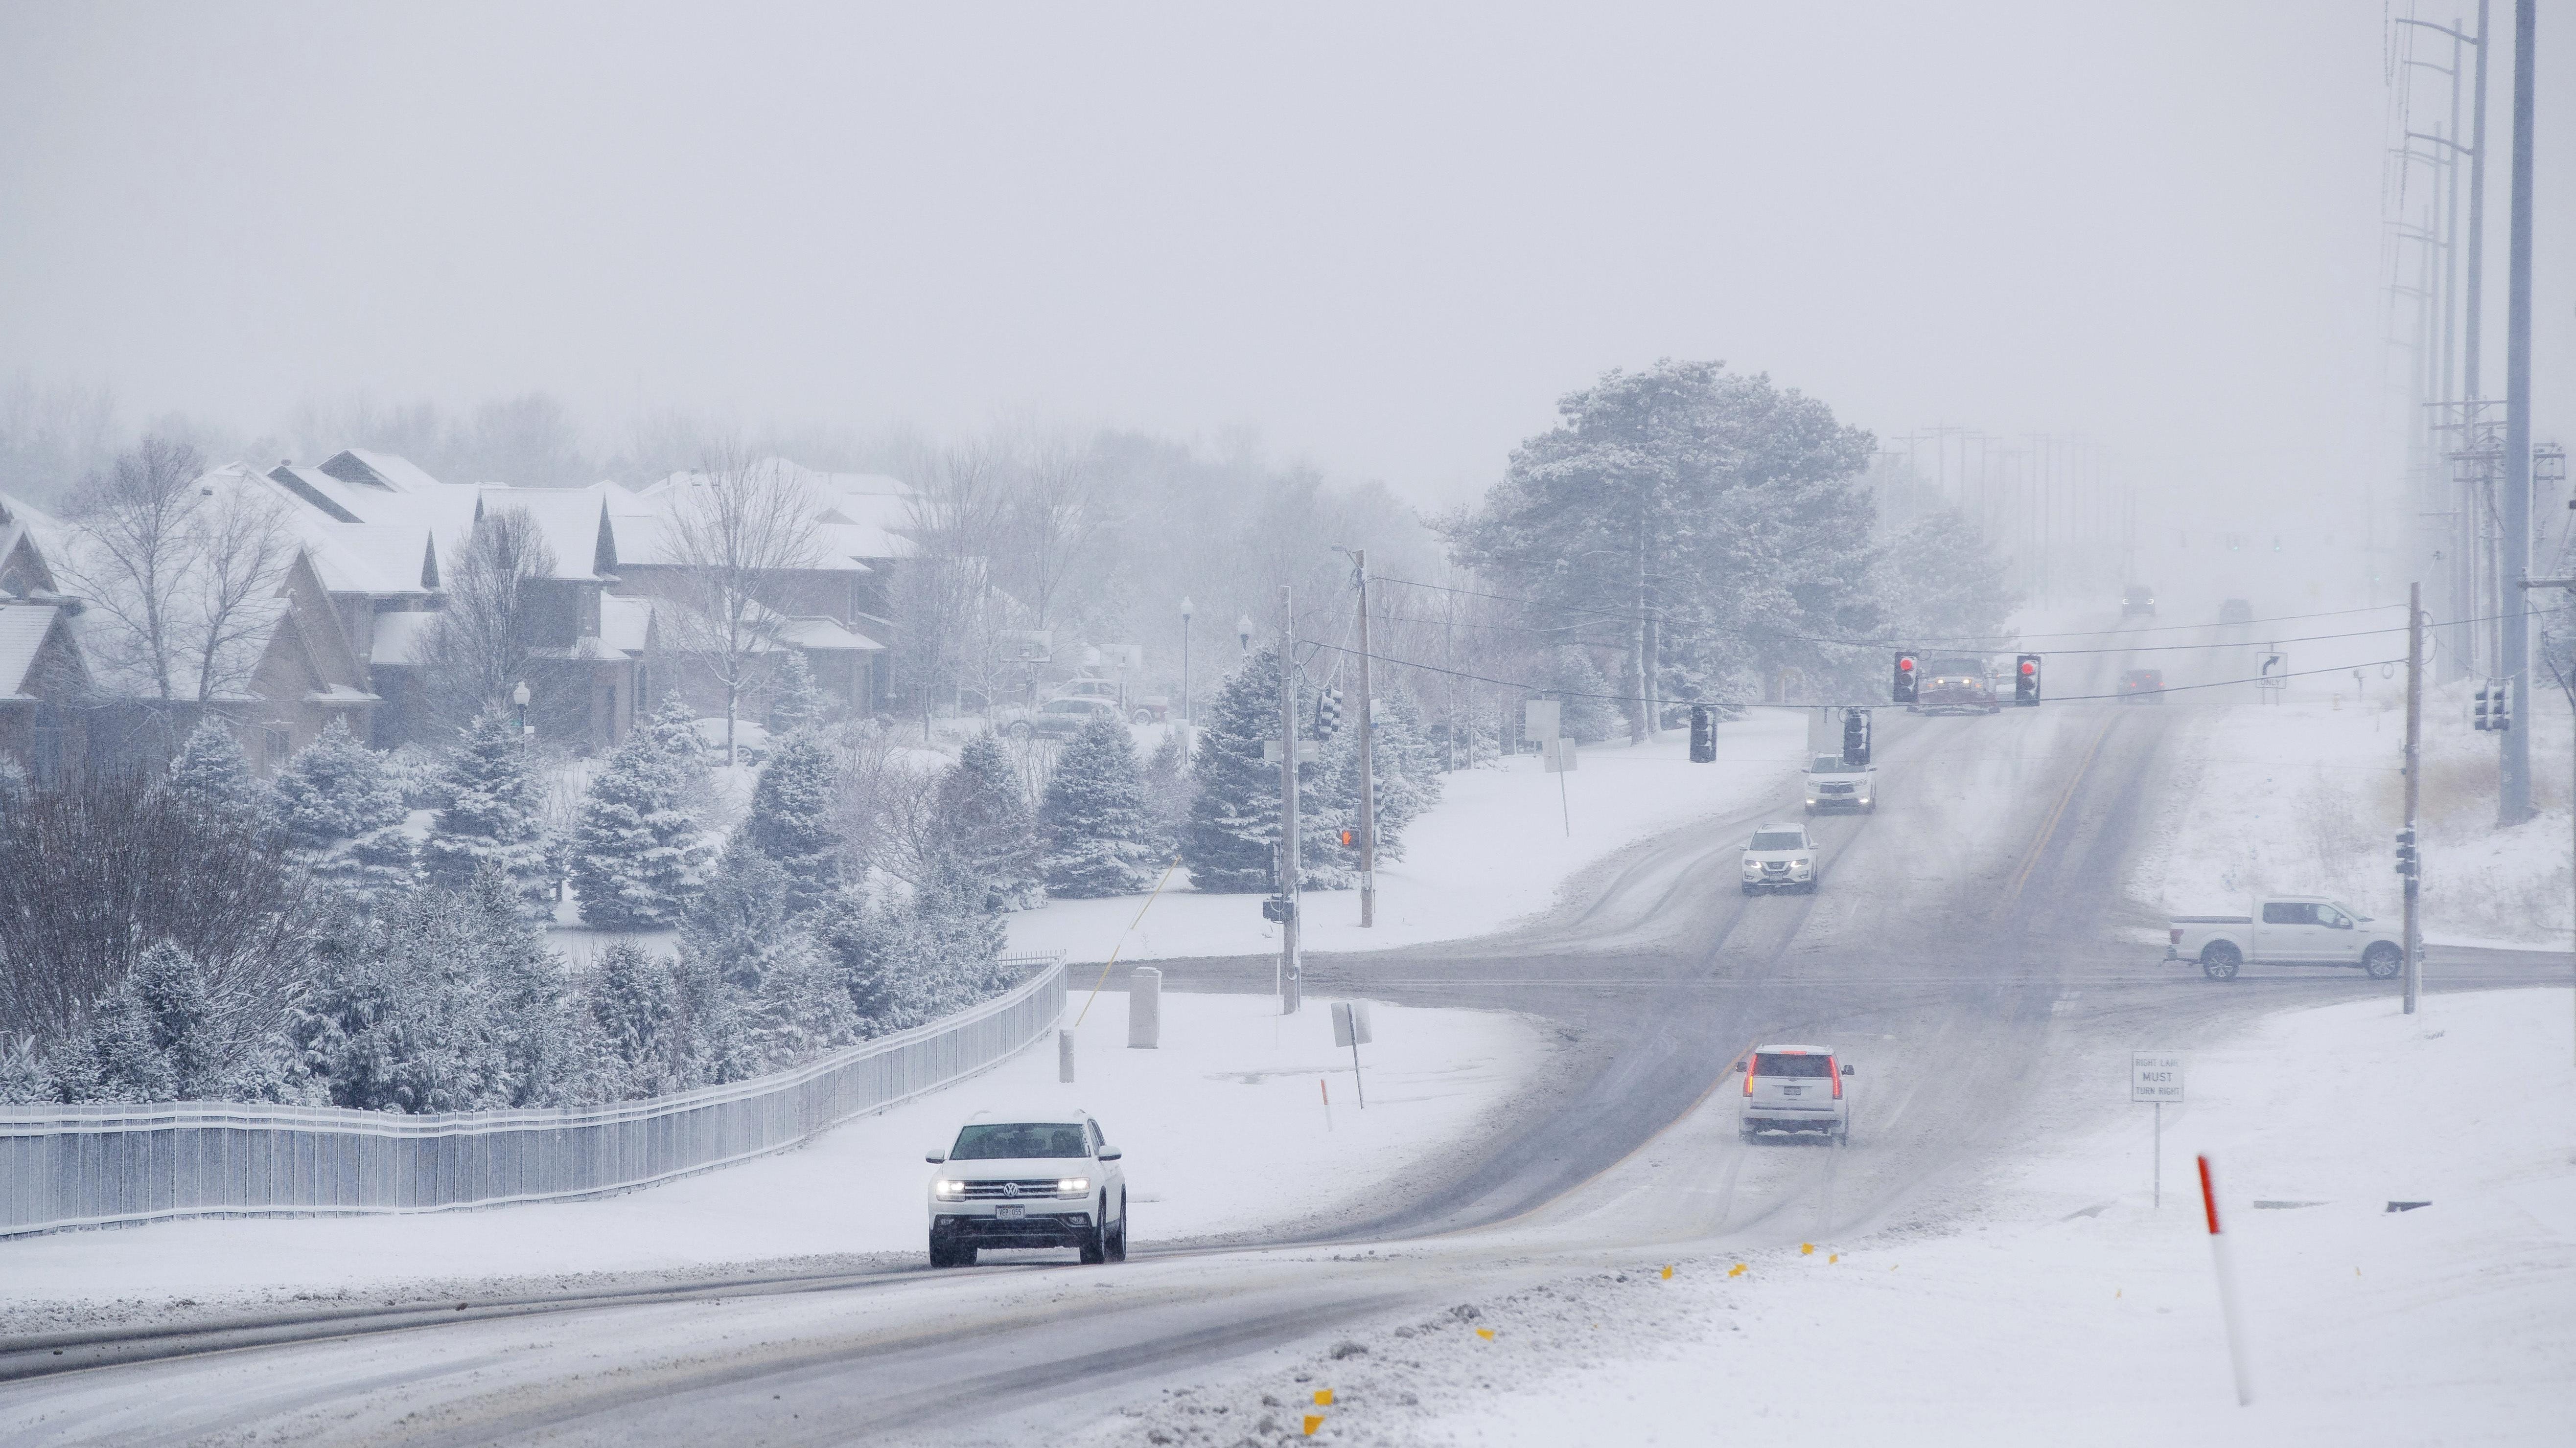
[[[979,1110],[930,1152],[930,1265],[971,1268],[979,1247],[1072,1247],[1126,1260],[1126,1170],[1087,1110]]]

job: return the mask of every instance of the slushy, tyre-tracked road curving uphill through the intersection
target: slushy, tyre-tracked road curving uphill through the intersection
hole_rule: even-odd
[[[2069,660],[2053,688],[2094,693],[2120,662]],[[0,1438],[1056,1440],[1175,1373],[1311,1353],[1388,1311],[1631,1268],[1651,1250],[1932,1219],[2009,1139],[2053,1051],[2385,989],[2344,974],[2210,987],[2136,943],[2151,920],[2125,902],[2125,866],[2154,817],[2172,716],[2105,703],[1880,714],[1880,809],[1816,822],[1816,897],[1736,894],[1747,814],[1628,850],[1582,881],[1582,907],[1510,938],[1314,958],[1316,997],[1525,1010],[1574,1038],[1571,1069],[1515,1105],[1525,1126],[1499,1154],[1332,1242],[469,1304],[438,1324],[417,1311],[286,1324],[273,1335],[294,1340],[276,1345],[31,1345],[0,1353],[0,1373],[46,1373],[0,1386]],[[1795,799],[1762,814],[1795,814]],[[2504,984],[2535,969],[2463,953],[2437,979]],[[1270,979],[1262,961],[1164,971],[1167,989]],[[1736,1141],[1723,1090],[1754,1038],[1829,1041],[1857,1064],[1850,1149]],[[57,1348],[64,1366],[237,1350],[52,1373]]]

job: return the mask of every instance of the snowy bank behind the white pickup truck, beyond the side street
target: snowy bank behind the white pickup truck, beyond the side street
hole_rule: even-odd
[[[2517,721],[2532,732],[2543,809],[2496,830],[2496,737],[2470,729],[2470,688],[2463,680],[2424,701],[2424,935],[2566,948],[2576,910],[2566,698],[2535,693],[2535,716]],[[2244,912],[2257,894],[2331,894],[2365,915],[2398,915],[2403,678],[2370,670],[2360,685],[2300,688],[2280,706],[2197,706],[2182,724],[2169,747],[2177,788],[2130,876],[2138,902],[2202,915]]]

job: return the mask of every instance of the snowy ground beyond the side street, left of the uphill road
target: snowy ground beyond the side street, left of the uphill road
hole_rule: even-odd
[[[1690,734],[1638,747],[1595,745],[1569,776],[1535,755],[1445,776],[1443,799],[1404,835],[1404,858],[1378,868],[1378,922],[1360,930],[1360,891],[1309,891],[1309,951],[1368,951],[1486,935],[1548,910],[1574,871],[1636,840],[1747,809],[1803,760],[1806,714],[1754,709],[1718,727],[1718,760],[1690,765]],[[1054,899],[1010,917],[1012,951],[1072,961],[1260,956],[1278,928],[1255,894],[1198,894],[1175,871],[1162,897]],[[1144,917],[1139,920],[1139,910]]]

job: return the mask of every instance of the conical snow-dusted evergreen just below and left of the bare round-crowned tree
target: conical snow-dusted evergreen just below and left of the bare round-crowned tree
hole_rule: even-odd
[[[572,835],[572,889],[595,930],[665,930],[714,873],[688,806],[688,773],[654,729],[636,729],[590,778]]]

